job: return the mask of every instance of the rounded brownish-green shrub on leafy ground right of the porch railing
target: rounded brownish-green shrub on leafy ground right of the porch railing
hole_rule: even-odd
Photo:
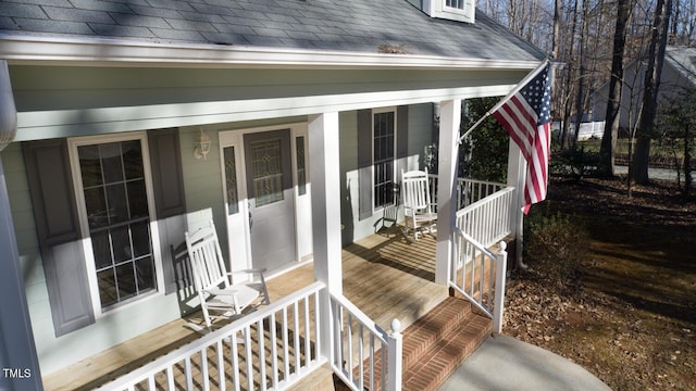
[[[589,235],[577,218],[548,210],[535,211],[525,218],[525,263],[559,287],[577,286],[588,252]]]

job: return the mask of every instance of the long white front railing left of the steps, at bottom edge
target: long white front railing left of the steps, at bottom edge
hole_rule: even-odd
[[[190,386],[188,389],[192,388],[194,381],[202,390],[209,390],[211,384],[224,389],[227,382],[239,389],[244,380],[250,390],[258,384],[262,389],[286,388],[325,361],[319,343],[320,292],[325,288],[323,282],[313,282],[107,383],[103,389],[154,390],[158,382],[164,382],[165,389],[173,390],[177,371],[183,371]],[[313,316],[313,328],[310,316]],[[310,343],[312,331],[316,341],[313,346]],[[264,346],[266,339],[279,339],[268,348],[271,354]],[[256,351],[252,351],[252,344],[258,348]],[[197,365],[200,373],[194,374],[192,367]],[[209,370],[210,365],[214,370]]]

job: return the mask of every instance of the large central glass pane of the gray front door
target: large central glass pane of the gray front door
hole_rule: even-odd
[[[250,147],[256,206],[283,201],[281,139],[253,141]]]

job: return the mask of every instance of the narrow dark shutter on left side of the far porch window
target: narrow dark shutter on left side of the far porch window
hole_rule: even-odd
[[[359,219],[372,216],[372,110],[358,111]]]

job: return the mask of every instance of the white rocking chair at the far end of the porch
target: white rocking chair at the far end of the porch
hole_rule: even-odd
[[[413,240],[418,241],[421,228],[434,231],[437,213],[435,204],[431,203],[431,191],[426,171],[401,171],[401,201],[403,203],[403,218],[406,235],[409,231]]]

